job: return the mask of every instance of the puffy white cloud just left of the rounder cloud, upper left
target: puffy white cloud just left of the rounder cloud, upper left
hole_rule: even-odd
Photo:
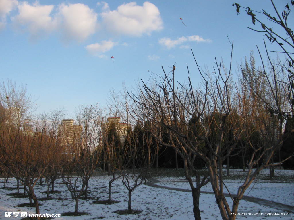
[[[56,23],[50,16],[54,5],[40,5],[37,1],[30,5],[26,1],[18,5],[19,14],[12,18],[17,26],[28,28],[31,35],[52,31]]]

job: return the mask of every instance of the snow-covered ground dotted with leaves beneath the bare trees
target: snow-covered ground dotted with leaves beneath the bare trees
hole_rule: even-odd
[[[232,170],[230,179],[226,179],[225,183],[232,193],[236,192],[238,186],[241,184],[240,170]],[[289,177],[294,176],[293,170],[276,170],[276,175],[283,173],[283,175],[289,175]],[[268,170],[264,170],[261,176],[266,176]],[[240,175],[239,175],[240,174]],[[108,181],[110,177],[107,176],[95,176],[90,179],[89,183],[89,195],[95,197],[96,199],[103,200],[108,197]],[[156,179],[161,182],[157,185],[164,185],[175,188],[189,189],[189,186],[183,177],[156,177]],[[272,183],[268,180],[263,180],[263,177],[259,177],[256,183],[253,183],[254,187],[248,189],[249,196],[263,198],[272,200],[275,202],[280,202],[283,204],[294,205],[294,183],[293,179],[288,178],[286,183]],[[285,179],[285,178],[284,178]],[[0,178],[0,187],[3,187],[3,178]],[[292,183],[291,183],[292,182]],[[61,183],[61,179],[57,180],[55,185],[55,190],[61,191],[58,194],[50,194],[50,197],[56,199],[40,201],[42,206],[40,206],[40,213],[52,213],[52,214],[62,214],[68,211],[74,211],[74,200],[71,199],[70,193],[64,184]],[[7,187],[16,187],[16,181],[13,178],[9,178]],[[38,198],[46,197],[46,194],[42,193],[46,190],[46,185],[42,186],[36,185],[35,192]],[[207,185],[203,188],[203,191],[211,191],[211,186]],[[9,220],[12,218],[5,218],[5,212],[24,212],[35,213],[34,208],[23,208],[17,207],[18,204],[29,202],[28,198],[14,198],[6,194],[16,192],[16,189],[0,189],[0,219]],[[147,185],[141,185],[136,188],[132,194],[132,208],[143,210],[140,214],[134,215],[118,215],[113,211],[119,209],[127,209],[128,207],[128,193],[126,188],[121,183],[121,180],[116,180],[113,183],[112,189],[112,199],[119,200],[117,204],[104,205],[104,204],[93,204],[93,199],[79,200],[78,211],[88,212],[88,215],[83,216],[61,216],[56,217],[56,220],[62,219],[171,219],[171,220],[185,220],[194,219],[193,217],[193,205],[192,196],[189,192],[179,192],[168,189],[154,188]],[[247,193],[245,193],[246,195]],[[231,205],[231,200],[228,198],[228,202]],[[218,206],[215,202],[215,197],[213,194],[201,194],[200,197],[200,210],[202,219],[221,219]],[[241,212],[281,212],[279,209],[273,209],[267,206],[262,206],[254,202],[248,202],[245,200],[240,201],[239,210]],[[13,219],[21,219],[20,217]],[[246,219],[246,217],[239,217],[237,219]],[[251,219],[251,218],[248,218]],[[255,217],[255,220],[265,219],[264,217]],[[274,217],[271,219],[278,219]],[[283,219],[294,219],[294,214],[292,217],[287,217]]]

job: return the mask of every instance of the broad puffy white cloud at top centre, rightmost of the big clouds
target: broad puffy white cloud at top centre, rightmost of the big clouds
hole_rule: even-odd
[[[114,11],[104,8],[105,11],[101,13],[103,23],[113,33],[140,36],[163,28],[160,12],[150,2],[144,2],[143,6],[130,2],[118,6]]]

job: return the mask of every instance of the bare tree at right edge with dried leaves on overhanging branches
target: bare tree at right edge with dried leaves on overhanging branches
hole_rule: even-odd
[[[260,49],[258,49],[258,53],[260,56],[260,60],[262,62],[262,70],[258,72],[263,75],[266,79],[265,84],[268,87],[267,92],[268,95],[266,97],[262,96],[255,87],[252,87],[250,84],[250,79],[246,78],[248,84],[250,85],[253,92],[258,96],[258,98],[263,102],[263,107],[266,109],[263,113],[263,120],[261,121],[263,124],[263,128],[261,133],[263,133],[264,142],[270,143],[272,148],[275,148],[275,152],[278,152],[278,162],[281,164],[280,157],[280,146],[282,144],[282,140],[285,139],[283,137],[283,127],[285,125],[285,121],[293,118],[293,106],[294,106],[294,96],[293,96],[293,77],[294,77],[294,57],[293,53],[289,51],[294,48],[294,35],[293,30],[289,26],[291,23],[288,22],[288,18],[290,16],[290,7],[294,6],[294,2],[291,1],[287,3],[282,9],[282,12],[279,12],[278,7],[275,5],[274,1],[270,0],[271,6],[274,10],[274,15],[270,15],[267,11],[262,10],[261,12],[254,11],[249,7],[244,8],[240,6],[238,3],[234,3],[233,6],[236,6],[237,13],[240,13],[240,8],[244,8],[247,14],[250,16],[253,25],[260,24],[261,30],[256,30],[250,28],[253,31],[257,31],[258,33],[263,33],[265,37],[271,42],[271,44],[275,43],[280,47],[281,51],[271,51],[274,53],[282,53],[286,56],[284,61],[281,60],[273,60],[270,55],[268,48],[266,46],[264,40],[265,47],[265,56],[262,55]],[[266,18],[265,21],[262,21]],[[268,68],[265,67],[265,59],[266,57],[268,63]],[[242,69],[242,72],[246,72],[246,70]],[[269,136],[268,134],[271,134]],[[290,133],[288,133],[290,135]],[[274,155],[274,154],[273,154]],[[293,154],[290,154],[291,157]],[[284,159],[288,159],[284,158]],[[273,163],[274,158],[271,158]],[[273,164],[270,166],[270,177],[274,176]]]

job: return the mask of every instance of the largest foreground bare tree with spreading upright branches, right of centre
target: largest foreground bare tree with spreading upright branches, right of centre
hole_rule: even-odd
[[[222,73],[221,65],[217,60],[216,64],[216,74],[213,78],[198,68],[199,73],[203,76],[204,89],[194,89],[190,77],[188,78],[188,87],[177,84],[174,80],[173,70],[170,73],[171,77],[164,72],[156,90],[151,90],[144,84],[144,92],[138,95],[141,95],[140,98],[134,99],[141,105],[143,111],[148,113],[148,118],[152,119],[153,123],[158,123],[158,120],[154,118],[153,111],[156,112],[156,115],[161,116],[160,123],[168,129],[170,141],[176,140],[180,146],[184,147],[182,152],[186,150],[187,153],[183,156],[185,163],[188,162],[187,159],[191,158],[191,155],[200,157],[206,163],[209,180],[222,218],[235,219],[235,215],[231,215],[231,213],[237,212],[240,199],[242,199],[245,190],[250,186],[257,173],[268,166],[270,158],[275,152],[275,146],[266,148],[263,145],[260,148],[254,148],[248,162],[247,176],[239,187],[237,195],[231,197],[233,206],[230,209],[223,194],[225,185],[223,183],[222,164],[225,158],[231,155],[240,140],[242,127],[240,126],[240,117],[236,113],[245,113],[241,110],[245,106],[243,104],[232,106],[233,95],[238,95],[238,92],[232,91],[233,87],[229,80],[230,70],[228,73]],[[197,62],[196,65],[198,67]],[[204,75],[207,76],[208,80]],[[144,101],[141,101],[142,99]],[[240,107],[241,109],[232,111],[233,107]],[[186,132],[187,130],[189,132]],[[176,148],[174,143],[172,141],[170,145]],[[261,160],[263,165],[258,166]],[[253,167],[255,166],[258,166],[258,168],[254,170]],[[201,181],[201,183],[203,182],[205,180]],[[201,187],[201,183],[196,186]],[[191,189],[193,191],[192,185]],[[197,198],[197,195],[195,197]],[[197,210],[197,202],[194,208]],[[195,213],[195,219],[199,218]]]

